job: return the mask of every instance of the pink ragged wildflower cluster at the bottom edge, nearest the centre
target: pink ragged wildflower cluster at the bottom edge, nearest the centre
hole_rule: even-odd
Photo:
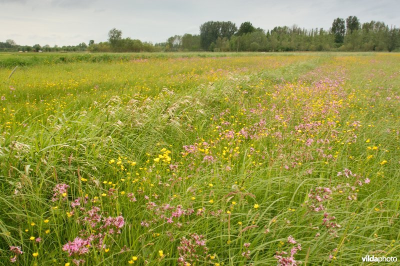
[[[205,246],[205,237],[191,234],[188,239],[186,237],[180,238],[180,245],[177,247],[179,258],[178,263],[186,266],[192,264],[193,261],[198,261],[201,254],[206,255],[208,248]]]

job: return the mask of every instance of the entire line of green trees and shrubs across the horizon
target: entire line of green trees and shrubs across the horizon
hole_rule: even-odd
[[[90,52],[159,52],[159,51],[400,51],[400,30],[382,21],[360,23],[356,16],[335,18],[332,26],[305,29],[297,25],[276,26],[271,30],[254,27],[251,22],[207,21],[199,34],[174,35],[165,42],[152,44],[129,37],[122,38],[116,28],[108,40],[76,46],[16,45],[13,40],[0,42],[0,51],[90,51]]]

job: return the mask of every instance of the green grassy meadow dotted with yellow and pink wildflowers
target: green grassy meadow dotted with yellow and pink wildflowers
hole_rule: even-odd
[[[34,56],[0,68],[1,265],[400,259],[400,54]]]

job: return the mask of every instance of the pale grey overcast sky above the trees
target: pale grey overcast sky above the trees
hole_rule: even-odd
[[[19,45],[77,45],[106,41],[117,28],[122,37],[163,42],[198,34],[208,20],[250,21],[265,30],[296,24],[328,29],[334,18],[400,26],[400,0],[0,0],[0,41]]]

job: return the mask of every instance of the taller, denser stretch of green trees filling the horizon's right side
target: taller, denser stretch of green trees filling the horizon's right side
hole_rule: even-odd
[[[161,44],[168,51],[394,51],[400,30],[381,21],[360,23],[356,16],[336,18],[332,27],[304,29],[277,26],[265,31],[246,21],[208,21],[199,35],[174,35]]]

